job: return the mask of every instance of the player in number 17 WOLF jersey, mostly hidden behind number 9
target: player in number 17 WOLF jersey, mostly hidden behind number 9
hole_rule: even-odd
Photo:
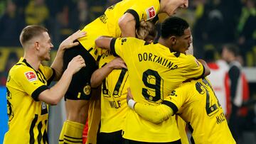
[[[152,42],[156,28],[151,21],[141,21],[136,30],[137,38]],[[102,84],[101,125],[97,143],[123,143],[122,128],[128,106],[126,103],[129,87],[128,72],[124,61],[114,57],[110,50],[104,50],[100,58],[100,69],[92,74],[92,87]]]

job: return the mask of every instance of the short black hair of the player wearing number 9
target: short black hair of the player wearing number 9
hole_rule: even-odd
[[[166,18],[161,24],[161,37],[169,38],[170,36],[184,35],[184,31],[189,27],[188,22],[176,16]]]

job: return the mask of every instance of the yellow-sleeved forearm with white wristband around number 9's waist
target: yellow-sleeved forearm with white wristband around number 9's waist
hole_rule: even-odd
[[[159,106],[152,106],[149,104],[142,104],[132,99],[132,93],[128,89],[127,102],[129,108],[133,109],[139,116],[145,118],[152,123],[161,123],[167,120],[170,116],[174,115],[174,110],[171,107],[160,104]]]

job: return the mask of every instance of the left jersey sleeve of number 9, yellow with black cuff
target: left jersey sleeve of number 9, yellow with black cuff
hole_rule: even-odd
[[[132,58],[132,52],[143,43],[143,40],[137,38],[112,38],[110,50],[115,57],[119,56],[127,62]]]

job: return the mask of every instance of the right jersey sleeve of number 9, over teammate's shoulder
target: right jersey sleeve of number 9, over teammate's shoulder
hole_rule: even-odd
[[[203,67],[201,62],[198,62],[198,60],[196,60],[196,57],[193,57],[193,55],[186,55],[185,63],[186,67],[183,72],[183,77],[186,77],[186,79],[198,79],[203,77],[205,67]]]

